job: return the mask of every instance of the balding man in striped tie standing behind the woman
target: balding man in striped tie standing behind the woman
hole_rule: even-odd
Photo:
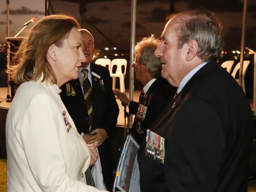
[[[99,142],[98,151],[104,183],[107,189],[111,190],[115,167],[109,139],[117,123],[119,108],[111,87],[109,70],[91,63],[94,51],[93,36],[84,29],[80,32],[86,61],[79,68],[78,79],[63,85],[60,95],[78,132],[87,144]]]

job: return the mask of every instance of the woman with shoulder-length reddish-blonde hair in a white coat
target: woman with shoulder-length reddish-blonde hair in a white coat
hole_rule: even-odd
[[[6,119],[7,191],[99,191],[84,176],[98,142],[87,146],[59,96],[85,60],[79,27],[66,15],[42,18],[8,69],[20,86]]]

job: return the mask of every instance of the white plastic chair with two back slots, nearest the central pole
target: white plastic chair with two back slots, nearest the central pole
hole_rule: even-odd
[[[115,73],[113,73],[113,66],[117,66],[117,70]],[[122,73],[122,66],[124,66],[124,73]],[[110,76],[112,77],[112,89],[115,89],[115,80],[116,78],[119,78],[120,81],[120,91],[125,92],[125,87],[124,87],[124,77],[126,74],[126,66],[127,66],[127,61],[126,59],[113,59],[111,61],[110,65]]]

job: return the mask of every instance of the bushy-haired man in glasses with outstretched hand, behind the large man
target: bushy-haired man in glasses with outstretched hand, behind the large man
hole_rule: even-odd
[[[160,40],[152,35],[143,38],[134,47],[135,60],[132,66],[135,68],[136,79],[144,85],[139,103],[130,101],[124,93],[114,91],[121,102],[128,105],[129,112],[136,115],[132,135],[139,144],[145,137],[146,130],[150,129],[165,106],[171,102],[177,90],[161,78],[161,61],[154,57],[159,43]]]

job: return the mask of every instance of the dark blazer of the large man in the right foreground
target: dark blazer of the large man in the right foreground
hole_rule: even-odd
[[[142,192],[245,192],[252,144],[249,102],[234,78],[207,63],[151,130],[164,137],[164,164],[138,151]]]

